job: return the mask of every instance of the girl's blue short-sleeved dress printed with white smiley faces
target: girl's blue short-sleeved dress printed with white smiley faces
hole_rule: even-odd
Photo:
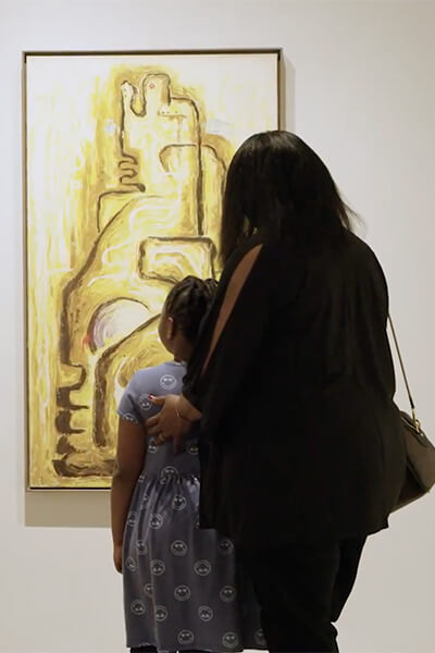
[[[138,371],[117,412],[144,424],[156,415],[148,398],[179,394],[185,366],[165,362]],[[199,529],[198,440],[175,456],[173,443],[149,440],[123,544],[127,646],[159,652],[265,649],[252,588],[236,564],[234,545]]]

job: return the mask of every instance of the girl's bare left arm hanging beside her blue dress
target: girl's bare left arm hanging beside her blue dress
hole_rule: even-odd
[[[122,571],[124,528],[136,481],[144,468],[147,440],[141,424],[120,418],[111,490],[113,556],[117,571]]]

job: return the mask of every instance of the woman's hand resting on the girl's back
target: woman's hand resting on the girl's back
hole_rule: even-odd
[[[153,397],[152,403],[161,406],[162,409],[154,417],[150,417],[146,423],[148,435],[153,435],[157,444],[173,440],[176,454],[182,451],[184,435],[190,430],[190,422],[178,415],[178,395]]]

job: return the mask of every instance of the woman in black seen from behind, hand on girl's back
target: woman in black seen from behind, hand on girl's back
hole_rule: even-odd
[[[251,574],[271,651],[338,651],[332,625],[405,447],[387,287],[324,163],[297,136],[249,138],[227,174],[225,268],[181,397],[150,432],[201,419],[201,525]]]

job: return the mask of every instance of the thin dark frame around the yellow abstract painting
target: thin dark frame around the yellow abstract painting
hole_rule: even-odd
[[[30,350],[33,346],[33,335],[29,324],[29,247],[32,246],[29,236],[29,210],[28,210],[28,62],[34,58],[51,57],[197,57],[197,56],[272,56],[276,59],[276,127],[283,128],[284,120],[284,97],[283,97],[283,50],[282,48],[247,48],[247,49],[175,49],[175,50],[28,50],[22,52],[22,134],[23,134],[23,268],[24,268],[24,320],[25,320],[25,482],[28,491],[76,491],[95,490],[108,491],[108,484],[86,484],[77,485],[38,483],[32,478],[33,464],[33,442],[32,442],[32,416],[30,416]],[[102,478],[102,477],[101,477]]]

